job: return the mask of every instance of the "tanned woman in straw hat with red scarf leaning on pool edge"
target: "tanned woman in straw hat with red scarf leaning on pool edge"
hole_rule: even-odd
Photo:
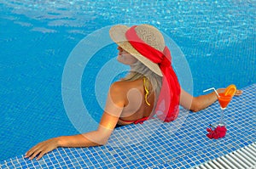
[[[114,25],[110,37],[118,44],[120,63],[130,65],[125,78],[109,88],[106,107],[96,131],[51,138],[32,147],[26,157],[40,159],[57,147],[89,147],[106,144],[115,127],[137,124],[157,115],[162,121],[174,121],[178,106],[199,111],[214,103],[212,92],[193,97],[179,85],[172,69],[171,53],[160,31],[152,25]],[[236,92],[237,95],[241,91]]]

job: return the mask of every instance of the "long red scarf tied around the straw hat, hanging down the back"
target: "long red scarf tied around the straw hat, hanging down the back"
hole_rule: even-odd
[[[170,50],[165,47],[164,51],[161,52],[160,50],[149,46],[146,42],[143,42],[143,40],[137,36],[137,32],[135,31],[136,27],[137,25],[134,25],[126,31],[125,37],[137,52],[155,64],[158,64],[163,74],[162,87],[155,112],[162,121],[174,121],[179,112],[178,105],[180,85],[177,81],[176,73],[172,69],[172,57]]]

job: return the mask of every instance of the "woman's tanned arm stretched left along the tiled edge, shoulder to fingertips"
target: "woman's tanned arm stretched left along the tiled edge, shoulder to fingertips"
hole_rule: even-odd
[[[125,105],[125,97],[122,91],[116,83],[113,83],[110,87],[106,108],[96,131],[51,138],[29,149],[26,152],[26,158],[30,157],[32,160],[38,156],[37,160],[39,160],[44,154],[57,147],[90,147],[107,144]]]

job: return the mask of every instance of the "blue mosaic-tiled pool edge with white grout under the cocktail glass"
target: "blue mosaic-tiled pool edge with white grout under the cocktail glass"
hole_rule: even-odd
[[[120,127],[106,146],[59,148],[40,161],[23,155],[0,163],[1,168],[190,168],[228,154],[256,138],[256,84],[243,88],[225,110],[228,132],[225,138],[207,138],[207,127],[219,119],[219,104],[187,113],[176,121],[154,119],[143,125]]]

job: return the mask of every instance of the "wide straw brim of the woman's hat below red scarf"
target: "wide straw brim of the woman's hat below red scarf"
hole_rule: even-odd
[[[152,70],[155,74],[163,76],[158,64],[155,64],[151,60],[144,57],[142,54],[138,53],[135,48],[133,48],[125,37],[125,32],[129,29],[126,25],[113,25],[109,30],[109,35],[113,42],[117,43],[119,47],[125,49],[126,52],[134,56],[143,65],[146,65],[148,69]]]

